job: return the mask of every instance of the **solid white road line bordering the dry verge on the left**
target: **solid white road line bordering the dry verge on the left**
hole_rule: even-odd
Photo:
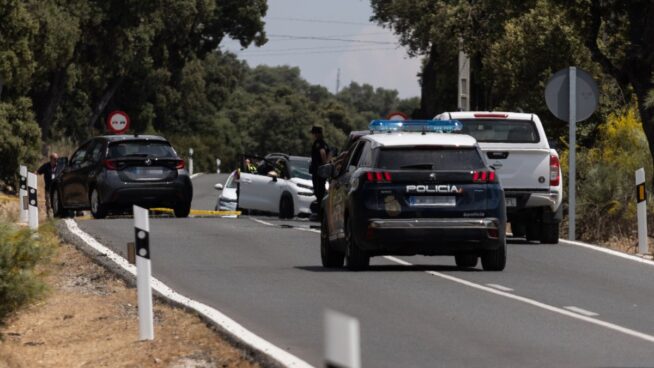
[[[105,254],[107,258],[112,260],[118,266],[122,267],[124,270],[131,273],[132,275],[136,275],[136,267],[129,264],[125,258],[121,257],[120,255],[118,255],[111,249],[105,247],[104,245],[100,244],[100,242],[98,242],[95,238],[93,238],[91,235],[87,234],[82,229],[80,229],[74,220],[66,219],[65,222],[66,222],[66,226],[68,227],[68,230],[71,233],[77,235],[91,248],[97,250],[100,253]],[[249,346],[253,347],[256,350],[261,351],[262,353],[270,356],[271,358],[277,360],[284,366],[312,367],[309,363],[303,361],[302,359],[296,357],[295,355],[292,355],[286,352],[285,350],[283,350],[282,348],[279,348],[273,345],[271,342],[268,342],[267,340],[264,340],[263,338],[259,337],[258,335],[246,329],[238,322],[227,317],[225,314],[221,313],[220,311],[206,304],[200,303],[198,301],[195,301],[193,299],[190,299],[184,295],[177,293],[176,291],[168,287],[166,284],[164,284],[163,282],[159,281],[154,277],[152,278],[152,288],[158,291],[159,293],[161,293],[162,295],[164,295],[166,298],[173,300],[179,304],[182,304],[187,308],[191,308],[197,311],[198,313],[204,315],[206,318],[212,320],[214,323],[221,326],[227,332],[236,336],[244,343],[248,344]]]

